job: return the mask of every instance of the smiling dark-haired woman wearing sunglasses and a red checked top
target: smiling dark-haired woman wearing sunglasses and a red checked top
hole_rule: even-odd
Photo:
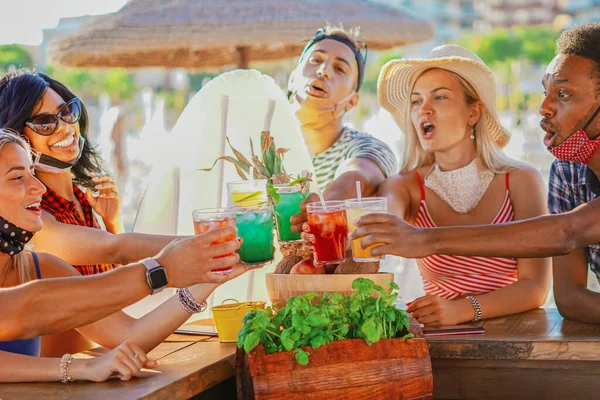
[[[115,267],[115,259],[123,258],[108,248],[112,240],[99,234],[102,231],[92,212],[102,218],[108,232],[123,232],[120,198],[86,140],[88,125],[85,106],[49,76],[18,70],[0,80],[0,128],[13,129],[27,138],[36,176],[47,188],[41,202],[44,229],[33,244],[38,251],[66,260],[82,275],[109,271]],[[93,196],[92,190],[99,195]],[[67,225],[82,229],[66,230]],[[131,247],[129,253],[133,254],[121,263],[156,254],[173,239],[137,235],[122,240],[129,242],[122,246]],[[47,349],[77,352],[90,346],[83,336],[69,331],[44,337],[42,354],[57,354],[47,353]]]

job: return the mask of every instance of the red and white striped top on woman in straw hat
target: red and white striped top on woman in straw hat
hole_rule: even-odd
[[[421,203],[416,225],[435,228],[425,202],[425,188],[415,172],[421,187]],[[492,224],[513,221],[515,213],[510,202],[508,173],[506,174],[506,196]],[[464,257],[433,255],[418,260],[425,293],[444,299],[454,299],[465,294],[488,293],[503,288],[518,280],[517,260],[498,257]]]

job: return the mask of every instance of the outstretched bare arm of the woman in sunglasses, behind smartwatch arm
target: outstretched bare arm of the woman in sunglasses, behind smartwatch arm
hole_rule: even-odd
[[[72,265],[130,264],[157,254],[177,239],[141,233],[113,235],[101,229],[63,224],[46,212],[42,219],[44,228],[33,237],[35,250],[54,254]]]

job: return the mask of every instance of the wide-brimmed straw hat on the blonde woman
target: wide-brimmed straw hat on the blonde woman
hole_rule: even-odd
[[[392,60],[383,66],[377,82],[379,104],[394,116],[400,129],[405,134],[412,129],[410,93],[417,78],[431,68],[454,72],[475,89],[487,111],[478,125],[485,124],[494,142],[501,148],[506,146],[510,133],[498,120],[492,71],[475,54],[455,45],[436,47],[425,58]]]

